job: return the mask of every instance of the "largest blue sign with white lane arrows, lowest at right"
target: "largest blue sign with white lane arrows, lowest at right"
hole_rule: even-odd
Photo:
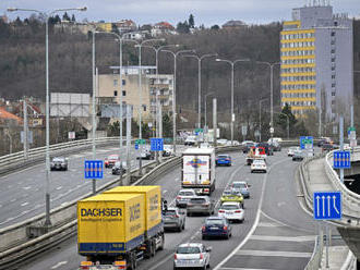
[[[313,204],[315,220],[341,219],[340,192],[314,193]]]

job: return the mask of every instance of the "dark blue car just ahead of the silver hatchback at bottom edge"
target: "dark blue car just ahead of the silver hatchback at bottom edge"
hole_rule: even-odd
[[[223,217],[209,217],[205,220],[205,224],[202,226],[202,238],[208,237],[231,237],[231,225],[226,218]]]

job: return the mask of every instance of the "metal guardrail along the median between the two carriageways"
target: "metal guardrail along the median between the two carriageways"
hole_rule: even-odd
[[[217,152],[227,152],[227,151],[233,151],[233,150],[240,150],[241,147],[219,147],[217,148]],[[179,165],[181,161],[180,157],[173,157],[168,160],[166,160],[160,165],[155,167],[153,170],[151,170],[148,173],[146,173],[143,177],[137,180],[132,185],[140,185],[140,184],[151,184],[156,177],[159,177],[161,174],[166,173],[167,171],[173,169],[173,167]],[[147,163],[145,167],[151,167],[155,164],[156,161],[153,161],[151,163]],[[133,170],[131,173],[136,173],[139,169]],[[120,180],[117,179],[115,181],[111,181],[110,183],[101,186],[98,192],[103,192],[112,185],[115,185]],[[71,202],[69,202],[67,206],[59,207],[57,209],[53,209],[51,211],[51,220],[56,218],[55,214],[57,214],[56,220],[59,222],[59,228],[55,229],[53,231],[46,233],[39,237],[27,240],[26,242],[23,241],[22,244],[17,244],[16,246],[13,246],[9,249],[5,249],[4,251],[0,253],[0,270],[2,269],[9,269],[10,267],[14,266],[15,263],[19,263],[20,261],[24,261],[31,257],[34,257],[34,255],[41,253],[43,250],[46,250],[49,247],[52,247],[70,237],[72,237],[76,233],[76,202],[79,199],[86,198],[88,196],[92,196],[92,194],[86,194],[82,196],[81,198],[77,198]],[[64,214],[67,213],[67,214]],[[5,240],[7,236],[10,236],[9,233],[11,233],[11,237],[17,237],[22,235],[23,237],[27,237],[26,235],[26,228],[31,224],[29,222],[39,223],[44,221],[45,214],[40,214],[36,218],[33,218],[31,220],[24,221],[22,223],[12,225],[8,229],[0,230],[0,236],[2,240]],[[64,216],[67,216],[67,220],[64,220]],[[61,223],[62,222],[62,223]],[[16,235],[17,234],[17,235]],[[8,243],[9,245],[9,243]]]

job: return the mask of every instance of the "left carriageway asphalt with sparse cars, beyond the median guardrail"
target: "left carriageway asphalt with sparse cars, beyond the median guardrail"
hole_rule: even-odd
[[[96,150],[97,159],[104,160],[111,154],[119,154],[119,147],[101,147]],[[131,168],[137,168],[134,149],[131,155]],[[51,209],[93,191],[92,180],[84,179],[84,161],[93,159],[92,150],[65,157],[69,158],[69,170],[50,173]],[[125,160],[125,150],[120,157]],[[143,160],[143,164],[147,162]],[[111,169],[106,169],[104,180],[97,182],[97,187],[117,177],[111,174]],[[0,177],[0,229],[45,211],[45,163],[23,170],[19,168],[17,172]]]

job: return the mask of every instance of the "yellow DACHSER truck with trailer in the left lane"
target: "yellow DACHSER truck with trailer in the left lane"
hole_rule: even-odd
[[[79,201],[81,268],[135,269],[155,256],[165,243],[161,207],[160,186],[119,186]]]

